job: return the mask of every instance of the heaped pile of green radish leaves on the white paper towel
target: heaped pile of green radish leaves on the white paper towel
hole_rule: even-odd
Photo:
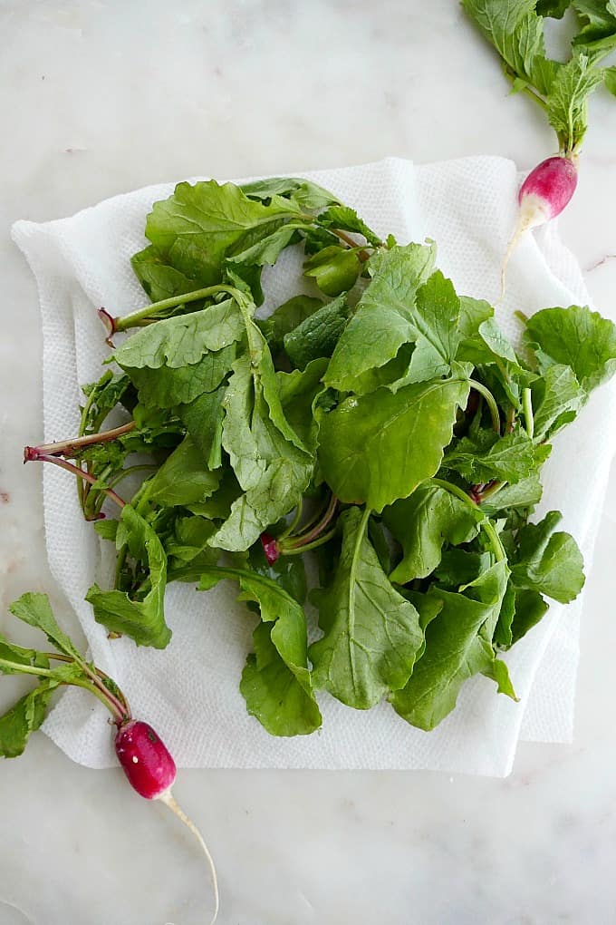
[[[236,582],[256,619],[238,680],[273,735],[319,729],[320,691],[387,699],[424,730],[473,675],[515,697],[500,653],[584,584],[560,513],[529,515],[551,438],[616,368],[616,328],[547,308],[515,351],[433,243],[383,240],[303,179],[180,183],[145,234],[132,265],[151,303],[100,311],[112,351],[79,434],[25,451],[78,475],[115,544],[95,619],[164,648],[168,583]],[[288,247],[312,294],[258,320]]]

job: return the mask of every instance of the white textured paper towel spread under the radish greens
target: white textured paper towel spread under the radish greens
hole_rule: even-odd
[[[429,166],[388,158],[376,164],[308,173],[400,243],[433,238],[438,265],[456,289],[494,300],[501,255],[515,220],[518,177],[512,162],[474,157]],[[71,218],[18,222],[14,239],[34,272],[43,333],[44,439],[66,438],[79,424],[79,386],[98,378],[106,355],[95,308],[124,314],[143,304],[129,257],[144,246],[145,216],[173,184],[116,196]],[[285,252],[264,273],[265,311],[301,288],[300,258]],[[554,225],[527,236],[508,271],[498,315],[513,338],[513,309],[532,314],[551,305],[587,303],[573,256]],[[545,468],[541,513],[560,508],[590,567],[598,512],[615,434],[599,428],[616,410],[616,387],[595,395],[581,418],[555,440]],[[596,435],[602,434],[600,443]],[[43,476],[45,528],[55,579],[74,608],[92,658],[127,693],[135,715],[163,731],[180,765],[224,768],[429,768],[505,775],[521,731],[525,738],[567,741],[572,734],[581,601],[552,604],[550,616],[507,660],[519,704],[497,697],[486,678],[465,685],[454,713],[432,733],[407,726],[386,704],[369,712],[320,696],[318,734],[275,739],[248,717],[238,691],[254,618],[224,582],[203,594],[170,586],[165,605],[174,636],[163,652],[129,639],[110,643],[83,597],[112,574],[112,550],[85,524],[72,479],[54,467]],[[109,544],[106,544],[109,547]],[[78,690],[62,697],[44,731],[70,758],[91,767],[115,763],[104,708]]]

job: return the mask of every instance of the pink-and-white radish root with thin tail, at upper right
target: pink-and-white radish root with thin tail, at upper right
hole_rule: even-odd
[[[518,192],[520,213],[517,228],[501,268],[501,299],[505,291],[505,270],[518,240],[529,228],[544,225],[560,216],[577,186],[577,158],[556,154],[531,170]]]

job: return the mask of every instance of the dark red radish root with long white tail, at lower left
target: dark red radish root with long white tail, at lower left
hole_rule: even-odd
[[[216,869],[208,846],[197,826],[175,802],[171,788],[175,783],[175,761],[162,739],[147,722],[127,717],[116,722],[115,754],[127,775],[128,783],[146,800],[161,800],[195,835],[205,857],[208,858],[214,888],[214,914],[211,925],[218,918],[219,895]]]

